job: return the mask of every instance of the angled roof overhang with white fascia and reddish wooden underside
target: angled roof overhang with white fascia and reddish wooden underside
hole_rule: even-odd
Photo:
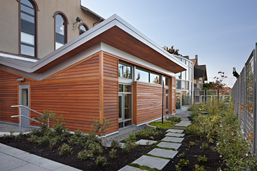
[[[11,62],[0,61],[1,64],[27,73],[44,73],[99,42],[109,44],[173,73],[186,70],[185,64],[182,64],[172,54],[162,49],[116,14],[30,66],[24,66],[19,62],[13,64],[13,60]]]

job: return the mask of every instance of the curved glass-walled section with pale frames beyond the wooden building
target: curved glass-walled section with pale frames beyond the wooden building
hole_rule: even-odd
[[[175,107],[176,111],[186,111],[193,103],[193,62],[188,56],[174,55],[183,64],[186,64],[186,70],[175,74]]]

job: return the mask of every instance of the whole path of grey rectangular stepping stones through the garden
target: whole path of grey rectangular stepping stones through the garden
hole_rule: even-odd
[[[190,115],[190,111],[184,111],[180,112],[178,114],[175,114],[175,116],[182,118],[182,121],[178,124],[175,124],[175,126],[178,127],[188,127],[188,125],[191,124],[191,121],[188,120],[188,116]],[[160,142],[157,146],[160,148],[154,148],[151,150],[149,155],[143,155],[140,158],[136,159],[132,163],[136,163],[139,166],[147,166],[149,168],[157,168],[158,170],[162,170],[167,163],[169,163],[170,159],[173,159],[175,155],[178,154],[177,149],[179,150],[181,146],[181,142],[184,140],[184,130],[181,129],[169,129],[167,130],[167,134],[162,139],[162,142]],[[150,140],[140,140],[136,143],[140,143],[140,145],[146,145],[146,142],[151,142]],[[155,141],[152,141],[153,143]],[[152,144],[152,143],[151,143]],[[165,149],[163,149],[165,148]],[[170,148],[171,150],[167,150],[167,148]],[[175,149],[175,150],[172,150]],[[163,158],[160,158],[163,157]],[[140,171],[139,168],[134,168],[132,166],[125,166],[121,168],[118,171]]]

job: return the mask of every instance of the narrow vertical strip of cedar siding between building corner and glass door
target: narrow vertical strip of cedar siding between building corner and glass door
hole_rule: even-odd
[[[108,53],[103,53],[103,75],[115,77],[117,81],[103,80],[103,117],[112,122],[108,127],[108,132],[111,133],[119,130],[118,122],[118,103],[119,103],[119,79],[118,79],[118,59],[112,57]]]

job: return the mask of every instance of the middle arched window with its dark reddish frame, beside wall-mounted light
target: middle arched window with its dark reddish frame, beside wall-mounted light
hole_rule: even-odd
[[[55,50],[62,47],[67,42],[68,19],[63,12],[55,12]]]

